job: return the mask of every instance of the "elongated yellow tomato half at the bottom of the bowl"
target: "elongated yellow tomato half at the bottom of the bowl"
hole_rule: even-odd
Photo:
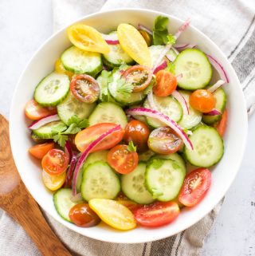
[[[131,230],[136,226],[135,218],[131,211],[114,200],[91,199],[88,205],[104,223],[118,230]]]

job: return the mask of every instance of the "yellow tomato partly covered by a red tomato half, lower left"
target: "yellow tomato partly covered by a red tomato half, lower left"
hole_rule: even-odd
[[[49,175],[45,170],[42,170],[41,175],[45,187],[51,191],[56,191],[65,183],[66,171],[61,173],[61,175]]]

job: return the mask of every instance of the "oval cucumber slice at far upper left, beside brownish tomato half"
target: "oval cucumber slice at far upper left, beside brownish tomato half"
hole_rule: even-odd
[[[50,73],[37,85],[33,97],[39,104],[45,107],[53,107],[59,104],[69,93],[69,77],[60,73]]]

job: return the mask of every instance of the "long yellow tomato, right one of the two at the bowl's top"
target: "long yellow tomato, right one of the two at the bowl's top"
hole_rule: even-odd
[[[121,47],[140,65],[147,65],[151,68],[151,53],[143,36],[129,24],[118,26],[118,38]]]

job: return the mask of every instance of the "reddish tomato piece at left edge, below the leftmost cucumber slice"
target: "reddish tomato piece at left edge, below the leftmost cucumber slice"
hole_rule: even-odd
[[[26,103],[25,114],[31,120],[39,120],[49,115],[57,114],[57,108],[45,108],[35,100]]]

